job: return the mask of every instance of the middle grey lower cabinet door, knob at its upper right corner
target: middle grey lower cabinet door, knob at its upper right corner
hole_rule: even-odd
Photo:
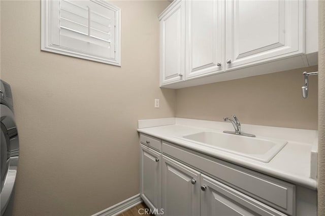
[[[164,215],[200,215],[201,173],[163,155],[162,202]]]

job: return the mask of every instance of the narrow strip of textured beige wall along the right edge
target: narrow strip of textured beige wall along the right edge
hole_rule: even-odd
[[[325,1],[318,8],[318,215],[325,215]]]

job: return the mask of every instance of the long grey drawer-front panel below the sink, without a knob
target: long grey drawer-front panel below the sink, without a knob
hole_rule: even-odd
[[[163,141],[163,153],[203,173],[215,176],[256,200],[289,215],[295,215],[296,187],[279,179]],[[204,170],[204,171],[203,171]]]

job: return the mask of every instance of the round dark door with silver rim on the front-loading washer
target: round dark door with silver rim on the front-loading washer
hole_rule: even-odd
[[[1,215],[6,210],[15,184],[19,139],[13,112],[1,104]]]

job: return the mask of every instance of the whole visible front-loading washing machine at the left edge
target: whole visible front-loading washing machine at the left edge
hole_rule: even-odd
[[[19,139],[10,85],[1,81],[1,215],[12,215],[19,159]]]

